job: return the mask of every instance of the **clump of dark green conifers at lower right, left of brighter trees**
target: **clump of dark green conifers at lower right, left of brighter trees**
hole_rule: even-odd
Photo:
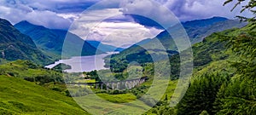
[[[177,105],[177,115],[200,114],[204,110],[212,114],[218,89],[224,81],[228,81],[228,77],[222,74],[206,74],[195,78]]]

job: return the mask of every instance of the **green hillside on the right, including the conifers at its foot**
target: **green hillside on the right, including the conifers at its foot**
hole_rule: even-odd
[[[255,33],[256,25],[251,23],[215,33],[196,44],[195,50],[211,61],[194,72],[186,95],[177,105],[178,115],[256,113]],[[203,49],[220,43],[226,44],[222,50]]]

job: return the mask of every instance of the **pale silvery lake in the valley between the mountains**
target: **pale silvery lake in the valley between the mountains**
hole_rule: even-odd
[[[117,53],[118,52],[108,52],[108,54],[103,55],[75,56],[67,60],[57,60],[54,64],[45,67],[53,68],[60,63],[64,63],[72,67],[72,69],[65,70],[65,72],[90,72],[94,70],[102,70],[107,69],[104,67],[105,62],[103,58]]]

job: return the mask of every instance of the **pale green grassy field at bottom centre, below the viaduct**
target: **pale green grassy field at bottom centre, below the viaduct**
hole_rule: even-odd
[[[119,95],[119,99],[113,99],[111,95],[102,95],[107,100],[123,100],[127,97],[125,95]],[[102,97],[97,95],[85,95],[82,97],[74,98],[87,112],[95,114],[142,114],[143,111],[150,109],[150,106],[143,103],[143,101],[132,101],[129,103],[113,103],[105,101]]]

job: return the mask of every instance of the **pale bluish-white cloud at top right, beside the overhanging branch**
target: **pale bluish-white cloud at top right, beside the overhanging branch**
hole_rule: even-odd
[[[240,9],[230,12],[234,3],[223,6],[224,0],[168,0],[161,3],[182,21],[210,18],[212,16],[224,16],[233,19],[236,15],[240,15]],[[251,14],[245,12],[244,15],[249,16]]]

